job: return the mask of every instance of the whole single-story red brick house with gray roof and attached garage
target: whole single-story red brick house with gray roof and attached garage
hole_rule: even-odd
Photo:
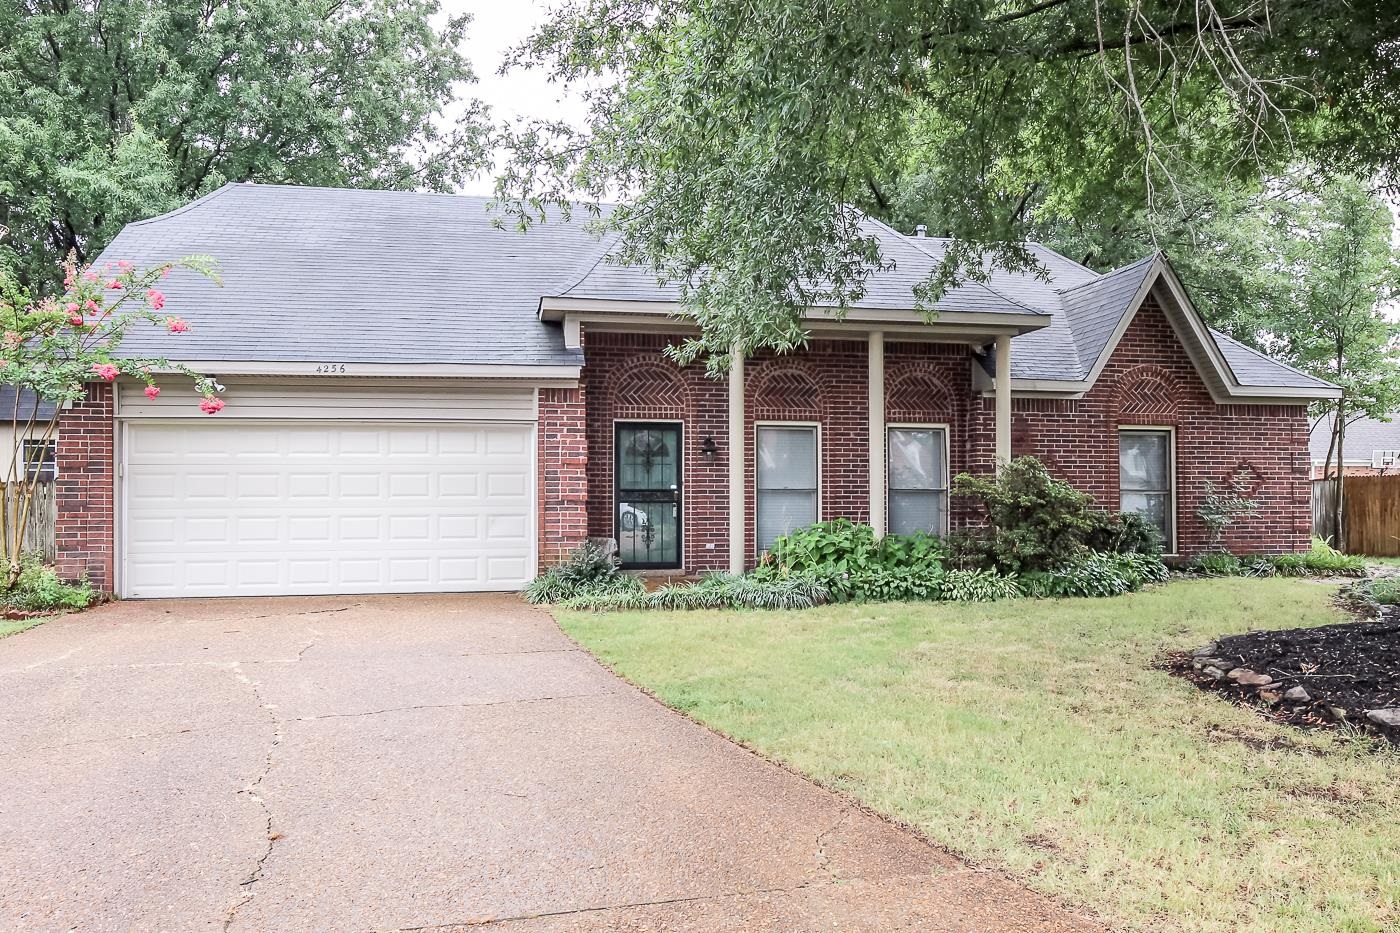
[[[722,380],[665,354],[678,294],[557,217],[482,199],[228,185],[130,224],[102,261],[176,273],[178,338],[125,352],[225,385],[197,410],[94,384],[62,415],[59,558],[127,597],[508,590],[589,535],[636,569],[752,566],[778,534],[973,520],[958,472],[1035,454],[1198,551],[1207,483],[1261,509],[1239,551],[1309,535],[1306,405],[1336,389],[1210,331],[1162,255],[1107,275],[1032,244],[1049,280],[913,287],[945,244],[868,221],[890,269],[809,345]]]

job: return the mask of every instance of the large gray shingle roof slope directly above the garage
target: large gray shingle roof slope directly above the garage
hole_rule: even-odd
[[[498,230],[484,198],[228,185],[127,226],[101,261],[207,254],[221,268],[224,287],[172,273],[165,310],[190,332],[136,328],[127,356],[578,366],[535,312],[596,248],[557,216]]]

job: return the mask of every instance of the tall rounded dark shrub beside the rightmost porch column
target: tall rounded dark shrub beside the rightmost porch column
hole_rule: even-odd
[[[960,474],[953,493],[980,500],[987,521],[955,539],[963,566],[1050,570],[1081,558],[1085,538],[1099,525],[1093,500],[1054,479],[1035,457],[1018,457],[995,476]]]

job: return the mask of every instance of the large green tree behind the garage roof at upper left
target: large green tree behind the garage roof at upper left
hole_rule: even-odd
[[[435,0],[0,0],[0,262],[52,284],[227,181],[452,188],[483,120]],[[22,256],[22,259],[21,259]]]

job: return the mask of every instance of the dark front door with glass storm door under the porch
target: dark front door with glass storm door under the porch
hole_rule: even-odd
[[[624,567],[680,566],[680,426],[620,423],[613,450],[617,556]]]

